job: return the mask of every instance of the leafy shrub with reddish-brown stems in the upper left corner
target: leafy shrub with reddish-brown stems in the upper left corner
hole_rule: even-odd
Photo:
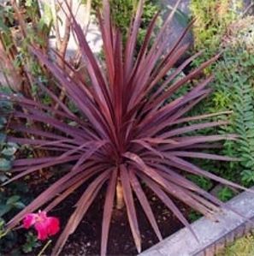
[[[27,50],[32,44],[45,51],[48,49],[52,19],[47,5],[41,7],[43,14],[40,14],[38,1],[12,1],[0,7],[0,70],[4,77],[1,86],[36,98],[34,77],[45,77],[47,73]]]

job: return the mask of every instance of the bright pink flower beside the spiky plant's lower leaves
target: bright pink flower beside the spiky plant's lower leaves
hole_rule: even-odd
[[[23,219],[23,228],[29,229],[34,226],[38,232],[38,240],[45,240],[50,235],[56,235],[59,231],[59,220],[57,217],[47,217],[46,211],[28,213]]]

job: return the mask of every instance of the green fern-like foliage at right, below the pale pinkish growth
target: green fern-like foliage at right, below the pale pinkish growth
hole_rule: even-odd
[[[245,49],[228,49],[216,65],[215,110],[232,110],[231,125],[222,133],[239,134],[239,140],[227,141],[227,155],[240,158],[230,170],[241,173],[246,186],[254,184],[254,55]],[[226,98],[226,99],[225,99]]]

